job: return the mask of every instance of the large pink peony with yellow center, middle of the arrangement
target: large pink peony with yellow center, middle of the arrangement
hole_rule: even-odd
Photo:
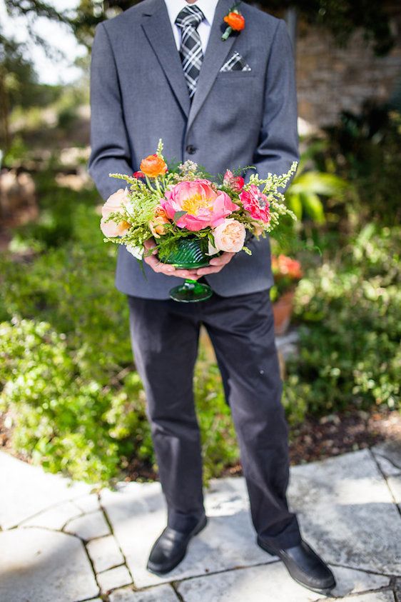
[[[176,222],[179,228],[193,232],[221,224],[225,217],[239,209],[228,194],[213,190],[208,180],[178,182],[172,189],[166,190],[161,206],[168,218],[174,219],[177,211],[186,211]]]

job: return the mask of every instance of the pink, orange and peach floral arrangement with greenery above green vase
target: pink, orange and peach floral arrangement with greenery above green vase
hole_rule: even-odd
[[[137,259],[143,259],[143,243],[152,237],[161,261],[186,237],[207,241],[208,255],[241,250],[251,254],[245,246],[247,232],[266,236],[281,215],[295,219],[278,189],[295,174],[296,162],[287,174],[268,174],[266,179],[251,174],[245,184],[230,170],[212,181],[193,161],[167,164],[162,151],[160,139],[156,153],[141,161],[140,171],[132,176],[109,174],[125,180],[129,189],[121,188],[106,200],[101,230],[105,241],[126,245]],[[235,171],[244,169],[255,168]]]

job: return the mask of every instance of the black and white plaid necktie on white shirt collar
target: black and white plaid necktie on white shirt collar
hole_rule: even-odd
[[[195,94],[196,82],[203,61],[202,45],[196,28],[204,18],[205,16],[198,6],[188,4],[178,13],[176,19],[176,24],[181,29],[180,56],[190,99]]]

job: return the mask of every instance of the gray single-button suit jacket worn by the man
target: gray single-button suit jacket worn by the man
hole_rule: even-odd
[[[143,0],[96,27],[91,59],[91,156],[88,171],[106,199],[124,186],[109,173],[132,174],[164,143],[165,158],[191,159],[216,176],[255,165],[260,176],[288,171],[298,160],[295,70],[281,19],[240,4],[245,29],[222,41],[232,0],[218,0],[192,102],[164,0]],[[221,71],[237,51],[250,71]],[[249,171],[245,180],[248,179]],[[270,244],[254,237],[218,274],[206,276],[222,296],[273,284]],[[168,299],[182,279],[141,266],[121,246],[116,287],[123,293]]]

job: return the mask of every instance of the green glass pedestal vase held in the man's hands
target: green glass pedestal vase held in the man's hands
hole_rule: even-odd
[[[209,265],[208,239],[196,239],[188,237],[177,241],[176,248],[166,256],[159,257],[163,264],[171,264],[177,269],[193,270],[205,268]],[[217,256],[217,254],[216,254]],[[186,279],[180,286],[174,286],[170,291],[170,297],[181,303],[196,303],[205,301],[213,295],[208,284],[196,280]]]

